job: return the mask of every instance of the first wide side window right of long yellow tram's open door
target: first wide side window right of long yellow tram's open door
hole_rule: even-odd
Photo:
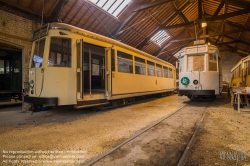
[[[133,73],[132,55],[117,51],[118,71]]]

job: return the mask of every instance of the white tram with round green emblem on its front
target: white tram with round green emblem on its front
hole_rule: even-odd
[[[179,96],[197,99],[220,95],[221,57],[216,46],[185,47],[175,57],[179,59]]]

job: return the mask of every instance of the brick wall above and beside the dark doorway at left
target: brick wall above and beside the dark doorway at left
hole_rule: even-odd
[[[0,7],[0,42],[22,50],[22,81],[28,81],[31,54],[31,37],[38,23],[30,15],[15,11],[6,6]]]

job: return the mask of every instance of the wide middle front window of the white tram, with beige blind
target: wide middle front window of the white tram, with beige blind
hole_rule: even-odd
[[[188,55],[187,70],[204,71],[204,55]]]

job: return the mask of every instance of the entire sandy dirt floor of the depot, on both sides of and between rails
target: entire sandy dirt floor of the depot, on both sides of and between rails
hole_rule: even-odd
[[[139,104],[106,111],[61,107],[31,115],[22,113],[20,106],[0,107],[0,164],[82,165],[187,104],[186,97],[173,95],[147,98]],[[131,143],[130,150],[140,153],[140,160],[129,160],[129,151],[116,157],[128,159],[122,165],[173,165],[171,159],[178,160],[181,156],[202,111],[199,103],[192,105],[177,120],[159,125],[158,136],[148,132],[144,142]],[[214,101],[209,105],[186,165],[250,165],[249,135],[250,113],[238,114],[229,102]],[[168,155],[173,151],[177,151],[177,156]],[[235,151],[241,154],[238,162],[225,157]],[[143,153],[151,155],[143,158]],[[163,164],[159,164],[160,160]]]

